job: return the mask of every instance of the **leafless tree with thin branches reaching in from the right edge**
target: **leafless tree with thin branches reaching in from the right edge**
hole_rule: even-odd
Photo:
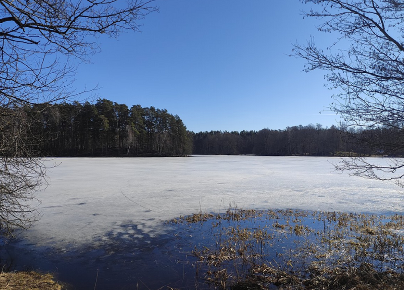
[[[404,153],[404,1],[307,0],[317,5],[305,16],[321,20],[319,31],[336,33],[320,48],[314,39],[295,44],[294,55],[307,61],[307,72],[326,71],[327,86],[337,91],[331,110],[341,127],[372,153]],[[357,134],[361,133],[361,134]],[[400,181],[404,161],[344,159],[336,166],[352,174]]]

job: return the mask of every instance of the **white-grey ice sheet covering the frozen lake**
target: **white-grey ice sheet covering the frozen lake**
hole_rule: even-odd
[[[58,158],[39,192],[35,244],[91,243],[131,221],[153,235],[160,222],[199,211],[239,208],[392,213],[404,210],[399,188],[335,172],[339,158],[194,156]],[[63,245],[66,244],[66,245]]]

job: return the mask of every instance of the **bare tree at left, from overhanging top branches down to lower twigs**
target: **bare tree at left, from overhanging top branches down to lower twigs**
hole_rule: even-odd
[[[153,1],[0,0],[0,234],[35,220],[45,182],[24,107],[75,97],[72,77],[98,51],[94,37],[137,31]]]

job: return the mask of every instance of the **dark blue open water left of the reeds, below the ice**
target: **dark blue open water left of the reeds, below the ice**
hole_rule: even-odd
[[[92,245],[55,250],[24,240],[0,247],[10,270],[54,272],[71,289],[158,289],[194,284],[189,266],[191,241],[186,231],[167,225],[165,234],[150,237],[131,223],[110,231]]]

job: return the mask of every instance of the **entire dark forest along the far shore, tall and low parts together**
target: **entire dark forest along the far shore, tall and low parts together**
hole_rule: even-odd
[[[283,130],[194,133],[166,109],[118,104],[59,103],[23,108],[30,120],[31,146],[43,156],[187,156],[255,154],[341,156],[386,154],[372,147],[381,128],[343,132],[320,124]],[[385,136],[385,134],[384,134]],[[396,137],[394,137],[396,138]],[[363,142],[363,141],[367,142]],[[370,144],[365,146],[363,144]],[[397,154],[397,152],[393,152]],[[401,153],[400,153],[401,154]]]

